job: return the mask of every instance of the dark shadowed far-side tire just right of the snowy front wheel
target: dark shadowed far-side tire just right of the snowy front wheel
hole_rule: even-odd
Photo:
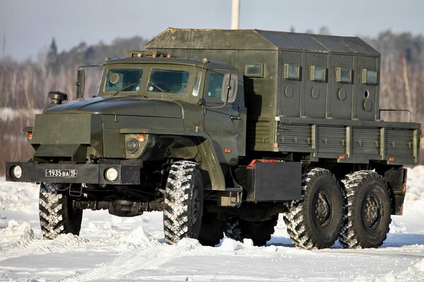
[[[216,218],[216,213],[204,213],[201,220],[199,242],[214,247],[224,237],[225,221]]]

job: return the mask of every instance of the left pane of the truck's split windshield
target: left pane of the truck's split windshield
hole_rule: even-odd
[[[140,89],[143,69],[110,69],[107,71],[105,92],[134,92]]]

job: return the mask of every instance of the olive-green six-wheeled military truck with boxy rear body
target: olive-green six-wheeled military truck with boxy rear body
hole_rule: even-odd
[[[77,100],[49,93],[6,179],[40,182],[48,239],[90,208],[163,211],[170,244],[264,245],[283,213],[297,247],[379,247],[420,141],[380,119],[379,65],[358,37],[169,28],[106,61],[92,98],[82,67]]]

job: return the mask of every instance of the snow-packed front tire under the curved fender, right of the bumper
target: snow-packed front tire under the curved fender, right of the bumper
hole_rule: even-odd
[[[187,160],[172,164],[165,188],[163,228],[165,241],[199,238],[203,213],[203,184],[199,165]]]

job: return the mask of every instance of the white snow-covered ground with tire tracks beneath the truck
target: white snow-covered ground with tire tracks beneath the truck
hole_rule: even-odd
[[[379,249],[307,251],[278,221],[266,247],[165,244],[162,213],[84,211],[81,235],[42,240],[38,187],[0,180],[0,281],[424,281],[424,167],[408,171],[404,216]]]

